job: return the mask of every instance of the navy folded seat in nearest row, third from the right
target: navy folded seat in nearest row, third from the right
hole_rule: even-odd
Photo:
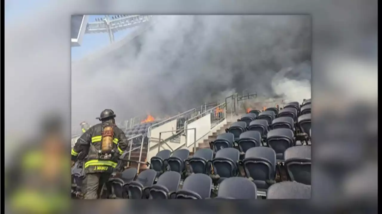
[[[212,179],[206,174],[192,174],[183,182],[181,190],[176,192],[177,199],[206,199],[210,198]]]

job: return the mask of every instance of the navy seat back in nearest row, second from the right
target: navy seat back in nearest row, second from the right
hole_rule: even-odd
[[[230,177],[223,180],[217,192],[219,198],[256,199],[256,185],[244,177]]]

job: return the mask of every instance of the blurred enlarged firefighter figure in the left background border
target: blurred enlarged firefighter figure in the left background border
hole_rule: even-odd
[[[65,176],[70,162],[62,152],[66,142],[63,122],[57,115],[47,116],[42,133],[20,147],[6,169],[6,200],[13,213],[66,213],[70,207],[66,193],[70,179]]]

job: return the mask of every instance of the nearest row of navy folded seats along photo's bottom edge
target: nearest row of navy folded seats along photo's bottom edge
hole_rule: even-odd
[[[257,185],[244,177],[223,180],[217,193],[212,193],[213,180],[206,174],[191,174],[183,183],[181,174],[164,172],[155,182],[157,172],[147,169],[139,175],[136,169],[126,169],[123,179],[114,180],[108,188],[117,198],[128,199],[257,199]],[[110,194],[110,191],[107,192]],[[104,198],[107,198],[106,195]],[[311,186],[298,182],[279,182],[267,190],[267,199],[309,199]]]

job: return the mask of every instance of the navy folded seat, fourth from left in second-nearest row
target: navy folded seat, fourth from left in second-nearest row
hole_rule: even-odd
[[[211,161],[214,173],[210,175],[215,184],[219,184],[228,177],[239,175],[239,156],[239,150],[234,148],[220,149],[216,153],[215,158]]]

